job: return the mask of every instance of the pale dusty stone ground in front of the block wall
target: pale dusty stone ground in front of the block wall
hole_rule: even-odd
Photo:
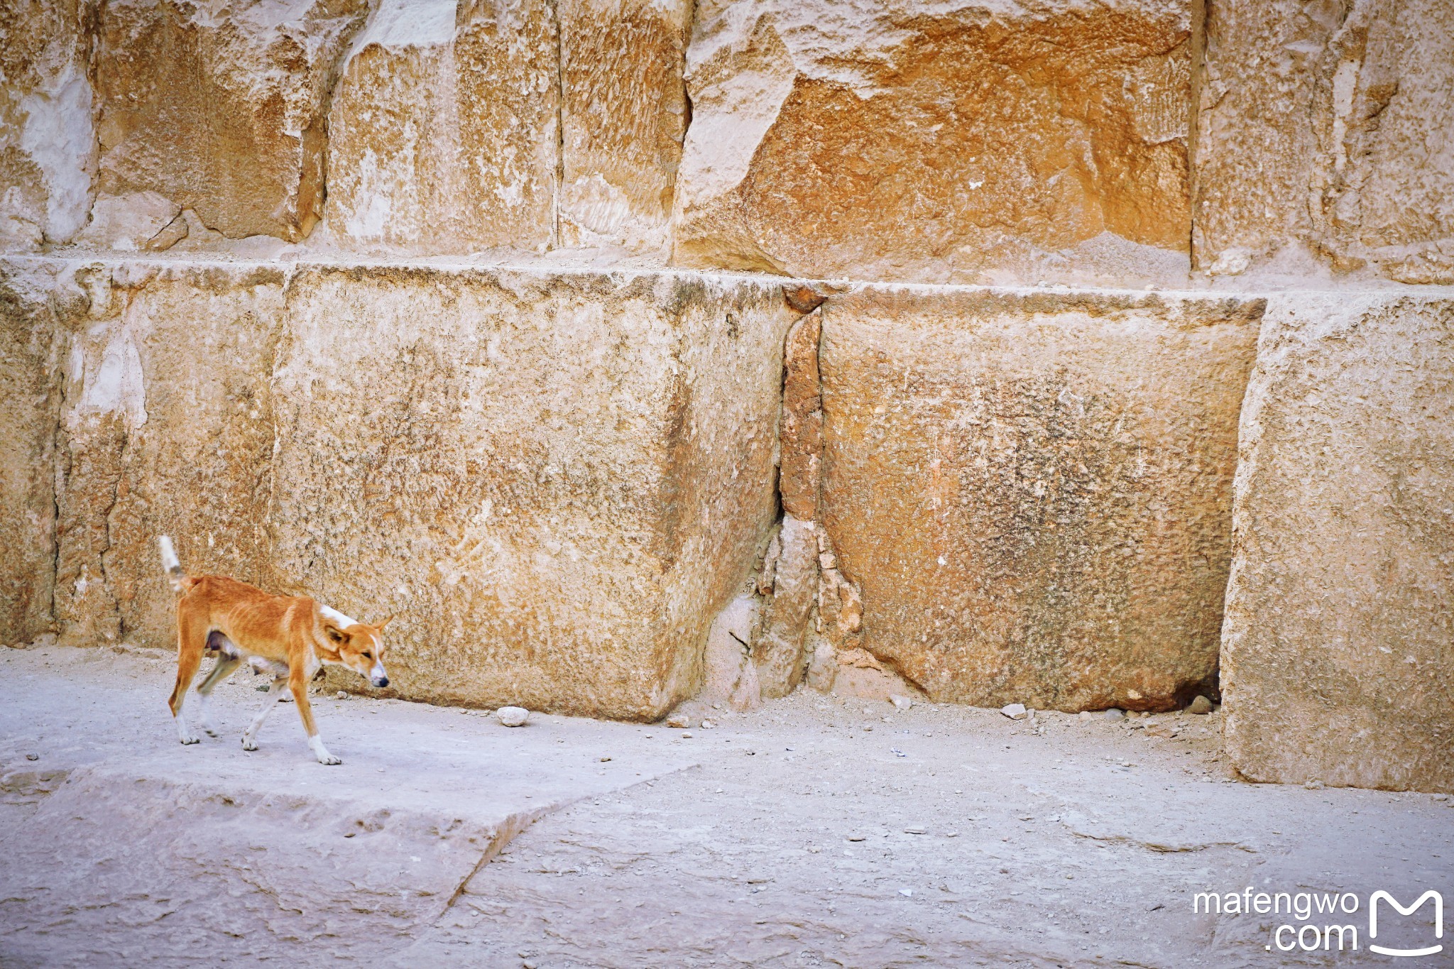
[[[0,649],[0,965],[1454,965],[1368,953],[1365,908],[1333,920],[1357,953],[1192,912],[1248,886],[1454,899],[1454,802],[1237,782],[1217,713],[800,693],[688,735],[329,697],[321,767],[291,706],[240,748],[246,674],[224,737],[180,747],[170,677]],[[1386,908],[1378,941],[1426,944],[1428,914]]]

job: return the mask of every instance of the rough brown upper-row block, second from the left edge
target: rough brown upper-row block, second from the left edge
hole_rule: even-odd
[[[108,0],[100,192],[156,192],[230,238],[305,237],[336,62],[365,13],[364,0]]]

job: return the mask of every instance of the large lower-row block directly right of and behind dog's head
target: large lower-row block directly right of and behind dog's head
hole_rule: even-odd
[[[310,269],[278,360],[279,584],[404,696],[654,719],[775,514],[776,288]]]

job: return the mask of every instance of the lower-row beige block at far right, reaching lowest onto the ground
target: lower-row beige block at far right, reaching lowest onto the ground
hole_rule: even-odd
[[[1253,780],[1454,790],[1454,292],[1269,301],[1223,632]]]

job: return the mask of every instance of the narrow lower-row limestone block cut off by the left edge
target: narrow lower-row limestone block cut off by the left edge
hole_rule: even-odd
[[[0,261],[0,644],[51,632],[61,340],[52,273]]]

